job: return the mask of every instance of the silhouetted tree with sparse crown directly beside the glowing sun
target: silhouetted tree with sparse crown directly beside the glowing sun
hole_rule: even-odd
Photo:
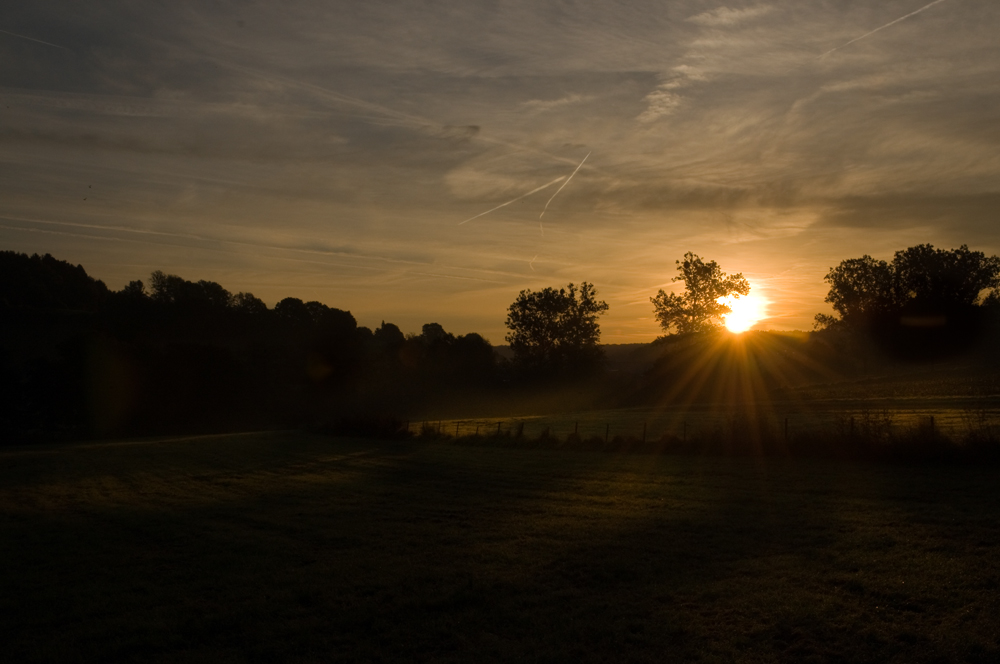
[[[726,275],[715,261],[704,262],[690,251],[677,261],[680,275],[671,281],[684,282],[684,295],[666,293],[661,288],[653,303],[653,314],[666,333],[707,332],[722,325],[722,316],[732,309],[721,298],[746,295],[750,284],[743,274]]]

